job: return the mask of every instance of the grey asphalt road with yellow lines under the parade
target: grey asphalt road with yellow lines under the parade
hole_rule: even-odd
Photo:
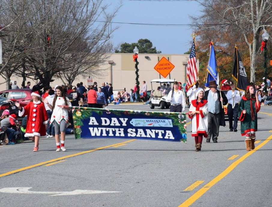
[[[272,107],[261,107],[251,152],[228,125],[201,152],[194,152],[190,126],[188,144],[70,135],[66,152],[55,152],[52,138],[37,153],[32,142],[1,146],[0,206],[272,206],[271,121]]]

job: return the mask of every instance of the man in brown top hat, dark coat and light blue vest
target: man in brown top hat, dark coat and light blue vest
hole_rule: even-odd
[[[210,90],[205,91],[204,100],[208,101],[208,137],[206,142],[210,142],[213,139],[213,143],[217,143],[219,135],[219,126],[226,125],[224,119],[224,109],[222,109],[221,101],[223,105],[228,103],[226,95],[222,91],[217,90],[217,84],[215,80],[209,82]],[[220,98],[220,93],[221,97]]]

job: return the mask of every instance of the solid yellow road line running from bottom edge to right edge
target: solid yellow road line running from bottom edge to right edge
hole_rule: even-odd
[[[244,161],[249,155],[256,152],[258,149],[263,147],[266,143],[268,143],[270,140],[272,140],[272,135],[268,137],[266,140],[264,140],[263,143],[255,147],[254,150],[251,150],[247,152],[245,155],[240,157],[237,161],[234,161],[227,169],[225,169],[222,173],[220,173],[218,176],[216,176],[214,179],[212,179],[210,182],[208,182],[206,185],[204,185],[201,189],[199,189],[196,193],[194,193],[191,197],[189,197],[186,201],[184,201],[182,204],[179,205],[179,207],[185,207],[190,206],[192,203],[194,203],[197,199],[199,199],[204,193],[207,192],[213,185],[215,185],[217,182],[222,180],[225,176],[228,175],[235,167],[237,167],[238,164],[240,164],[242,161]]]

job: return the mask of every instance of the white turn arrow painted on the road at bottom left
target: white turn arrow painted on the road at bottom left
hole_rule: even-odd
[[[68,196],[68,195],[82,195],[95,193],[122,193],[119,191],[102,191],[102,190],[73,190],[73,191],[30,191],[32,187],[4,187],[0,189],[1,193],[23,193],[23,194],[55,194],[51,196]]]

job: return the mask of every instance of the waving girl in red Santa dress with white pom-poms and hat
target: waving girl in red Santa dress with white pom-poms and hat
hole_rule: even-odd
[[[27,126],[25,137],[32,137],[35,140],[33,152],[38,152],[39,139],[46,138],[48,116],[38,91],[31,93],[32,100],[25,107],[18,102],[15,105],[19,108],[19,116],[27,115]]]

